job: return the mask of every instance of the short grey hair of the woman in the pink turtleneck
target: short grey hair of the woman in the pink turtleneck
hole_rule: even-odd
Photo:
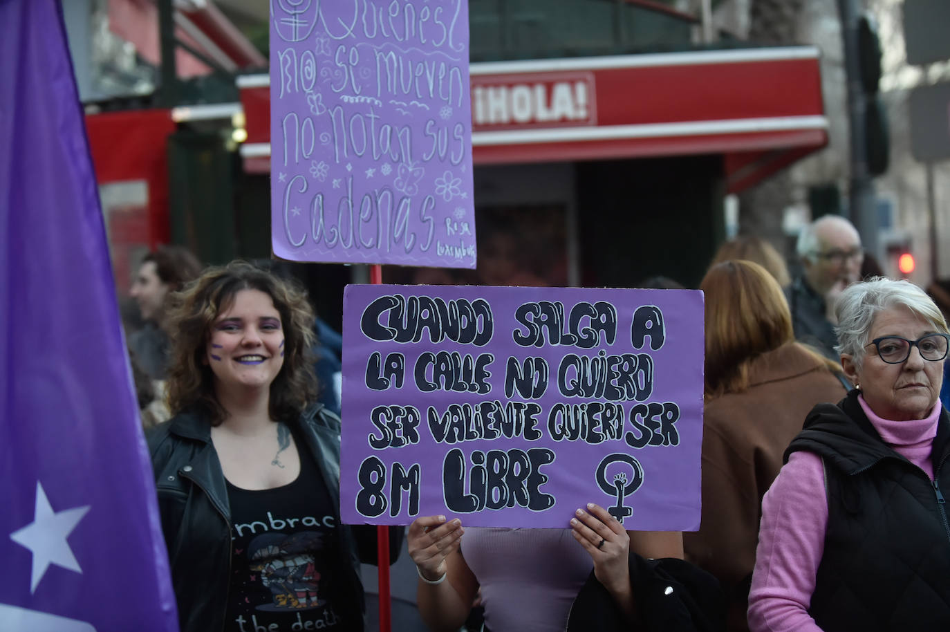
[[[834,312],[838,316],[838,326],[835,327],[838,346],[835,350],[850,355],[860,369],[874,319],[884,310],[894,307],[906,307],[935,330],[950,334],[940,308],[921,288],[906,279],[875,277],[849,285],[835,302]]]

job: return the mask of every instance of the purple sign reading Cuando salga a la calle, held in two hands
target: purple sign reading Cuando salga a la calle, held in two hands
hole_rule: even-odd
[[[350,285],[344,522],[699,527],[694,290]]]

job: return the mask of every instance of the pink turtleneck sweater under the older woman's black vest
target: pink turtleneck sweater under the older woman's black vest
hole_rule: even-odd
[[[924,419],[890,421],[858,397],[864,414],[888,446],[931,479],[930,450],[937,436],[940,400]],[[762,500],[759,546],[749,593],[751,632],[821,632],[808,616],[828,520],[825,469],[811,452],[792,452]]]

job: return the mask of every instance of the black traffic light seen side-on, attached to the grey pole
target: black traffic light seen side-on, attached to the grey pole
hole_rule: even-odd
[[[890,132],[881,92],[881,40],[874,18],[858,18],[858,62],[864,90],[864,160],[867,172],[880,176],[890,163]]]

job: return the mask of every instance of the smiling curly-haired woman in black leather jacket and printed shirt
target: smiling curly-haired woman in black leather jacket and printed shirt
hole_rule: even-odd
[[[182,632],[361,631],[376,527],[340,522],[340,419],[314,403],[305,292],[236,261],[175,299],[175,416],[148,443]]]

